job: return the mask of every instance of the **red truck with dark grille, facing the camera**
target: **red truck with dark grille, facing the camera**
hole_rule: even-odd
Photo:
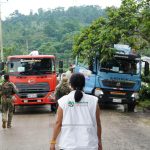
[[[18,89],[13,97],[15,106],[55,104],[55,56],[9,56],[6,65],[10,81]]]

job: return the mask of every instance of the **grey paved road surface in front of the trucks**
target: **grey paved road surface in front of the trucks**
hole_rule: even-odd
[[[111,106],[102,109],[101,121],[103,150],[150,149],[150,113]],[[49,106],[17,108],[13,128],[0,126],[0,150],[48,150],[54,122]]]

